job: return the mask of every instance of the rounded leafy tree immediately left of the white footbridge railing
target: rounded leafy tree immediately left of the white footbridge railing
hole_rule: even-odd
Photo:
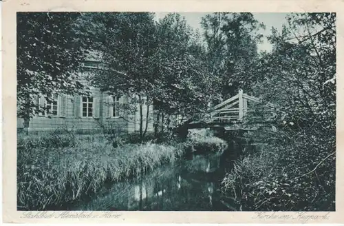
[[[180,14],[167,14],[157,27],[158,61],[154,66],[160,81],[155,94],[157,110],[168,117],[182,115],[184,118],[206,112],[216,86],[206,67],[200,35]]]

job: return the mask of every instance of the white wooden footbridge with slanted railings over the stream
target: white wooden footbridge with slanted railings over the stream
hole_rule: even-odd
[[[248,113],[255,111],[250,107],[250,103],[261,103],[260,99],[245,94],[243,90],[235,96],[226,99],[208,111],[208,116],[204,120],[191,121],[188,128],[204,128],[204,127],[224,127],[225,130],[257,130],[262,124],[268,120],[255,121],[248,123]],[[266,104],[273,107],[271,103]]]

